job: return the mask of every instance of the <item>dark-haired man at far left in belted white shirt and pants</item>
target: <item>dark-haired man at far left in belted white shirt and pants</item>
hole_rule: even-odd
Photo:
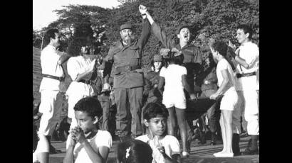
[[[50,152],[56,153],[56,149],[51,146],[51,135],[58,122],[61,113],[61,104],[57,102],[62,98],[59,94],[60,81],[63,80],[63,69],[61,64],[68,60],[69,56],[61,55],[56,47],[59,44],[59,33],[57,29],[50,29],[46,32],[44,38],[48,45],[41,51],[41,70],[43,79],[40,85],[41,104],[39,112],[41,116],[38,135],[45,135],[50,144]]]

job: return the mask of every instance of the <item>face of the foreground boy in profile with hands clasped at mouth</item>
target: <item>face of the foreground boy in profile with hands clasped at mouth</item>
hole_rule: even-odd
[[[77,120],[77,125],[83,130],[85,134],[95,129],[95,124],[98,123],[97,116],[95,116],[95,118],[92,118],[88,116],[88,113],[85,113],[83,111],[75,111],[75,118]]]

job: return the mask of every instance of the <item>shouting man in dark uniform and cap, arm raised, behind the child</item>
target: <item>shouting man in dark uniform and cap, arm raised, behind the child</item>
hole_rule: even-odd
[[[162,30],[162,28],[160,28],[157,23],[155,23],[148,12],[146,12],[146,16],[151,24],[155,37],[157,37],[160,42],[165,45],[165,47],[169,48],[170,50],[172,47],[176,47],[177,50],[182,51],[182,54],[184,55],[184,67],[187,69],[187,82],[189,83],[189,86],[191,86],[192,90],[199,91],[199,86],[197,86],[197,84],[195,85],[194,81],[197,77],[197,74],[199,74],[203,68],[202,52],[199,50],[199,47],[189,44],[191,37],[189,26],[181,26],[178,28],[177,38],[179,38],[179,44],[175,45],[174,40],[165,34],[165,31]],[[189,98],[189,94],[186,94],[186,98]],[[189,124],[187,124],[187,130],[188,145],[190,145],[190,142],[192,141],[192,130],[189,128]],[[187,147],[187,150],[190,150],[190,148]]]

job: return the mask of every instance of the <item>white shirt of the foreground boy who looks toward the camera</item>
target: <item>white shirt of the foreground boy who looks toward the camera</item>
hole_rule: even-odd
[[[147,135],[141,135],[136,137],[136,140],[141,140],[142,142],[146,142],[149,144],[150,138]],[[165,147],[165,154],[172,158],[173,154],[180,154],[179,152],[179,141],[177,137],[172,135],[166,135],[162,139],[159,140],[161,145]]]

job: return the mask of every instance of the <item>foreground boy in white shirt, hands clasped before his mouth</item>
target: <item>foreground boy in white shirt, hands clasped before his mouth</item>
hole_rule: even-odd
[[[63,163],[107,162],[112,136],[98,130],[98,118],[103,115],[99,101],[85,97],[75,104],[74,111],[78,126],[68,135]]]

